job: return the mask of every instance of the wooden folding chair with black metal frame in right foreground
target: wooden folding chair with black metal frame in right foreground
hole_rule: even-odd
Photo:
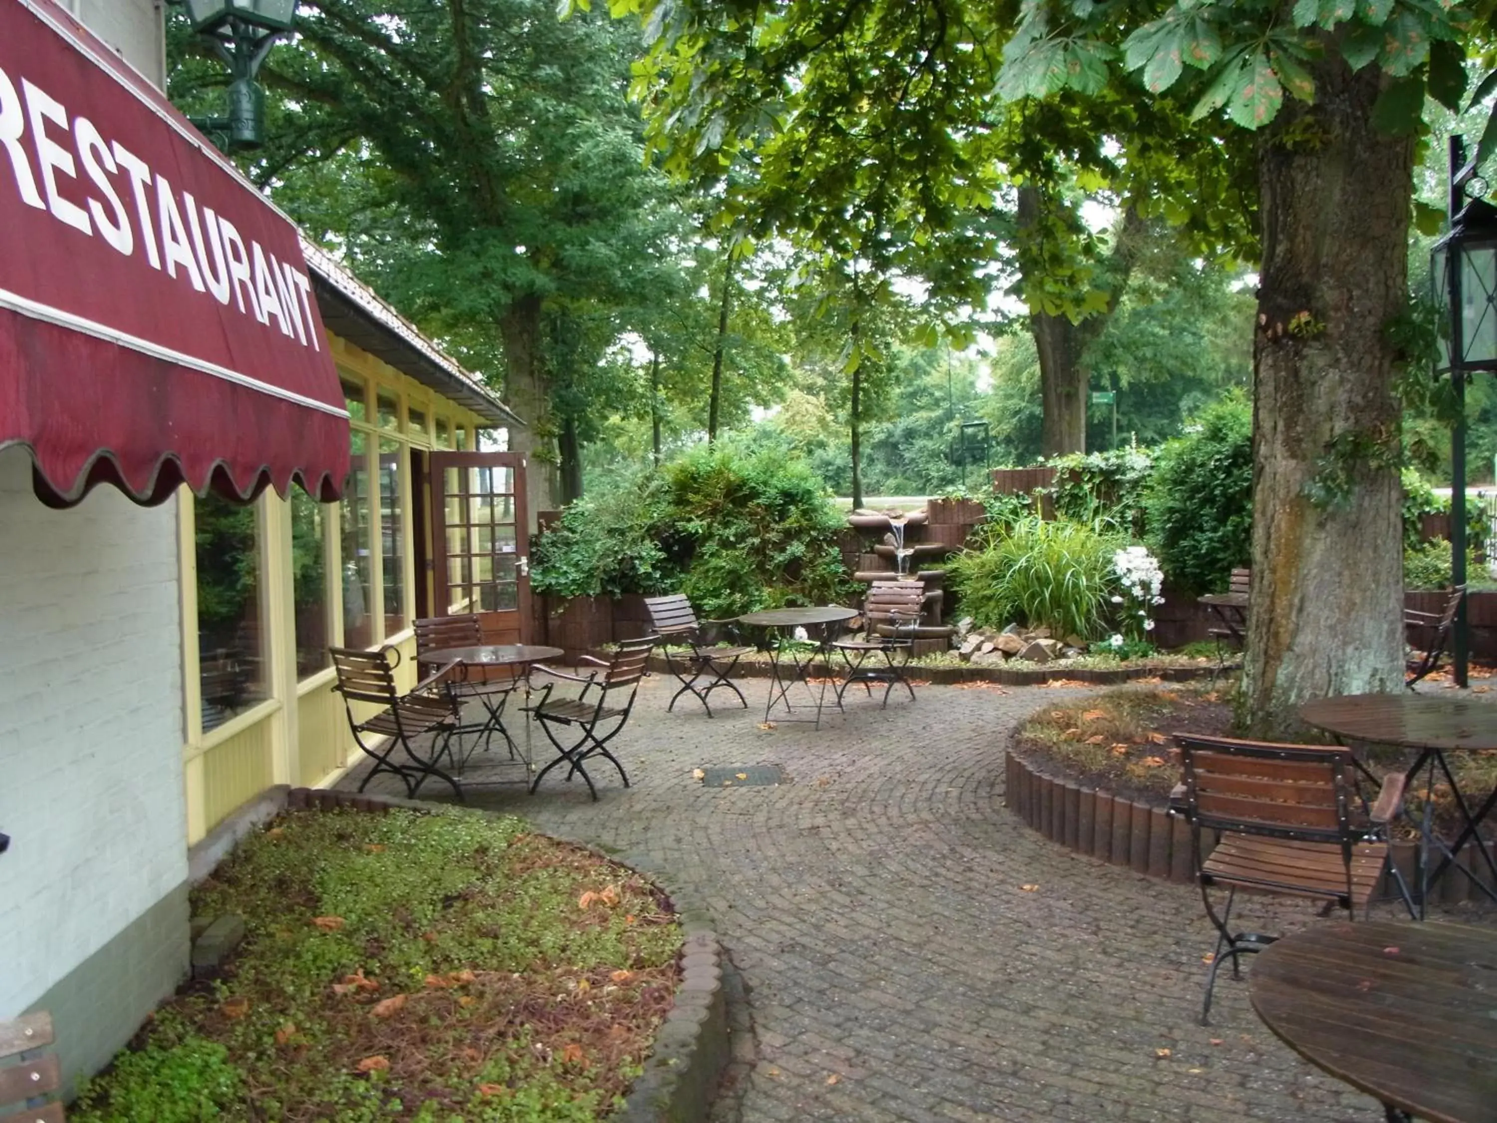
[[[1367,915],[1383,868],[1394,871],[1404,904],[1413,903],[1388,862],[1388,822],[1403,801],[1404,776],[1383,780],[1376,806],[1361,813],[1352,750],[1341,746],[1272,744],[1228,737],[1175,735],[1184,764],[1184,798],[1178,810],[1190,822],[1192,859],[1207,916],[1217,930],[1207,975],[1201,1024],[1211,1012],[1211,990],[1223,960],[1243,978],[1238,960],[1277,936],[1232,931],[1232,903],[1240,888],[1322,898],[1326,907]],[[1220,833],[1202,859],[1202,834]],[[1211,889],[1226,888],[1217,913]]]

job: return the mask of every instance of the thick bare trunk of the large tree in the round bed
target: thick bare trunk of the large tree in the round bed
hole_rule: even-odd
[[[1293,735],[1307,699],[1403,687],[1400,412],[1383,328],[1407,301],[1413,141],[1373,127],[1377,93],[1377,67],[1353,75],[1337,57],[1322,61],[1316,103],[1286,100],[1259,148],[1241,696],[1254,737]],[[1293,144],[1281,141],[1289,130]]]

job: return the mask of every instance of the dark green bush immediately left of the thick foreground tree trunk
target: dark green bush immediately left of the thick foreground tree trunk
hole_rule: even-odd
[[[1225,588],[1251,557],[1253,407],[1222,398],[1166,442],[1148,487],[1148,539],[1165,573],[1187,593]]]

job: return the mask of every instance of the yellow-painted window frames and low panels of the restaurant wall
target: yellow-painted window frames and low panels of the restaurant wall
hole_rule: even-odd
[[[458,433],[463,443],[473,448],[476,428],[484,427],[481,418],[457,403],[422,386],[415,379],[401,374],[394,367],[376,359],[347,341],[331,337],[332,356],[344,379],[362,380],[368,389],[368,401],[383,392],[400,401],[400,431],[389,433],[373,425],[364,425],[371,436],[395,436],[415,449],[430,449],[434,443],[437,421],[448,428],[446,448],[457,448]],[[425,415],[424,431],[412,425],[410,412]],[[371,416],[373,421],[373,416]],[[416,683],[416,642],[409,621],[415,617],[415,551],[413,535],[428,539],[430,529],[412,526],[412,496],[409,461],[401,473],[404,494],[401,497],[401,533],[404,566],[401,587],[407,627],[382,642],[392,642],[401,651],[395,678],[401,689]],[[319,672],[304,681],[296,680],[296,636],[293,612],[293,582],[290,575],[290,503],[274,493],[259,500],[260,615],[271,698],[249,713],[228,722],[225,726],[202,732],[202,699],[199,695],[198,662],[198,563],[193,535],[192,496],[183,496],[183,514],[178,521],[178,554],[183,572],[183,660],[184,660],[184,725],[183,749],[187,785],[187,842],[196,843],[229,813],[277,783],[292,786],[329,786],[343,773],[358,764],[361,753],[349,731],[343,698],[334,693],[331,672]],[[379,503],[374,502],[376,542]],[[343,590],[340,553],[340,511],[331,508],[328,520],[328,614],[332,620],[334,642],[343,638]],[[380,553],[373,554],[373,569],[379,579]],[[419,575],[430,581],[427,573]],[[428,587],[430,593],[430,587]],[[380,597],[376,597],[376,603]],[[376,630],[383,629],[383,618],[376,612]]]

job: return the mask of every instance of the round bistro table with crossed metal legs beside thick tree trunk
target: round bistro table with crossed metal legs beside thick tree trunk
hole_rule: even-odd
[[[1437,695],[1416,695],[1401,692],[1397,695],[1343,695],[1340,698],[1319,698],[1299,707],[1299,717],[1305,725],[1335,734],[1341,741],[1370,741],[1371,744],[1397,744],[1404,749],[1416,749],[1418,758],[1406,773],[1406,785],[1413,785],[1419,773],[1428,767],[1425,777],[1425,813],[1421,824],[1421,885],[1419,909],[1428,897],[1428,889],[1436,885],[1445,871],[1460,870],[1467,879],[1497,901],[1497,864],[1493,861],[1491,849],[1481,837],[1482,821],[1497,806],[1497,786],[1487,795],[1485,801],[1475,807],[1461,792],[1460,785],[1451,774],[1451,765],[1445,755],[1452,752],[1482,752],[1497,749],[1497,705],[1491,702],[1476,702],[1469,698],[1440,698]],[[1359,765],[1361,767],[1361,765]],[[1461,833],[1454,844],[1446,844],[1433,828],[1430,809],[1430,789],[1434,788],[1436,770],[1443,774],[1455,797],[1455,806],[1461,815]],[[1364,768],[1365,771],[1365,768]],[[1476,846],[1476,852],[1485,859],[1487,871],[1493,877],[1488,885],[1464,865],[1457,865],[1455,858],[1467,843]],[[1442,850],[1440,864],[1428,873],[1430,846]],[[1428,874],[1428,876],[1425,876]]]

